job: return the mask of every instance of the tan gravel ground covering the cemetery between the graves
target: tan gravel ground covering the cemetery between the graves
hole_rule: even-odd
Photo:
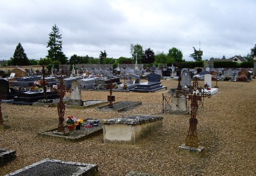
[[[141,101],[126,112],[66,109],[65,117],[113,118],[161,112],[162,93],[177,81],[162,80],[167,90],[155,93],[113,92],[117,101]],[[200,82],[203,85],[202,82]],[[215,83],[212,83],[215,85]],[[139,171],[156,175],[255,175],[256,80],[218,82],[219,94],[206,98],[198,112],[198,137],[207,152],[202,158],[179,155],[185,142],[189,115],[164,114],[163,127],[136,145],[103,143],[103,136],[77,143],[36,138],[38,132],[57,127],[57,108],[2,104],[11,129],[0,131],[0,148],[16,150],[17,158],[0,167],[0,175],[42,159],[97,164],[100,175]],[[107,99],[106,91],[82,91],[82,100]],[[68,96],[68,95],[67,95]]]

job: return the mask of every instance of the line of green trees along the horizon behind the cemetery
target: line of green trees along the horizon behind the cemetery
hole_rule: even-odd
[[[118,59],[108,58],[108,54],[104,50],[100,51],[99,58],[93,58],[86,56],[77,56],[76,54],[72,55],[70,59],[62,52],[62,34],[60,34],[56,24],[52,27],[52,32],[49,33],[49,41],[47,42],[48,55],[45,58],[28,59],[24,48],[21,43],[18,43],[14,51],[13,57],[8,61],[3,61],[2,66],[8,65],[47,65],[48,69],[51,69],[54,64],[58,68],[59,64],[113,64],[113,67],[116,67],[117,64],[145,64],[151,66],[153,64],[164,64],[166,66],[172,65],[177,62],[185,62],[183,59],[183,53],[180,49],[172,47],[169,49],[168,53],[164,52],[155,52],[151,48],[146,48],[143,50],[143,46],[140,44],[131,44],[131,58],[120,57]],[[203,52],[197,50],[195,47],[194,53],[190,54],[189,57],[193,58],[195,61],[202,61]],[[245,58],[250,61],[253,60],[253,56],[256,55],[256,44],[251,48],[251,53],[248,54]],[[223,56],[225,58],[225,56]]]

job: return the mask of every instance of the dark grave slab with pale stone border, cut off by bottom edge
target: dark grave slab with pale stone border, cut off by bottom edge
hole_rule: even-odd
[[[71,161],[60,161],[45,159],[37,163],[31,164],[22,169],[16,170],[15,172],[7,174],[15,176],[45,176],[45,175],[87,175],[87,176],[98,176],[98,165],[77,163]],[[6,175],[6,176],[7,176]]]

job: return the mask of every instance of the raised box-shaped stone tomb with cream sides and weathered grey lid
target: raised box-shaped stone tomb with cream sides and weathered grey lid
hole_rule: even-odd
[[[162,127],[162,116],[138,115],[101,120],[105,143],[136,144]]]

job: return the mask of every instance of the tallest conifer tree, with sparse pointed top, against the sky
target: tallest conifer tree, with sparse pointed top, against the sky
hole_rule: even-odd
[[[68,58],[62,52],[62,41],[61,35],[59,34],[59,29],[56,24],[52,27],[52,32],[49,34],[49,41],[47,47],[50,47],[48,50],[48,55],[46,58],[50,58],[53,61],[59,61],[61,64],[68,63]]]

